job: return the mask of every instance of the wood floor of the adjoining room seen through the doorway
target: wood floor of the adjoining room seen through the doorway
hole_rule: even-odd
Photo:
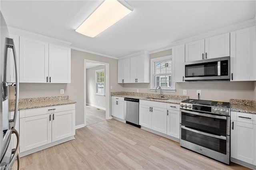
[[[86,125],[106,120],[106,111],[86,105]]]

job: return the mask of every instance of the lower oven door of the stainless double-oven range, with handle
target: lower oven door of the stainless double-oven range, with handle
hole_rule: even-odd
[[[227,152],[226,136],[212,135],[181,125],[181,139],[222,154]]]

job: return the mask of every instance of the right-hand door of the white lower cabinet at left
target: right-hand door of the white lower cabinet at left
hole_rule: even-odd
[[[75,135],[75,110],[52,113],[52,142]]]

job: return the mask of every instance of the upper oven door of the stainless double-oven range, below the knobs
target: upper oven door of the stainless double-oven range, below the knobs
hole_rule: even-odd
[[[208,113],[200,113],[195,111],[188,111],[180,109],[181,122],[184,125],[203,129],[218,134],[226,135],[227,133],[227,117],[212,115]]]

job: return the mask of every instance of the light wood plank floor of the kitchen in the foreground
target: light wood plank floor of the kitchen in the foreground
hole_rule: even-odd
[[[242,170],[115,119],[76,130],[76,139],[22,157],[21,170]]]

